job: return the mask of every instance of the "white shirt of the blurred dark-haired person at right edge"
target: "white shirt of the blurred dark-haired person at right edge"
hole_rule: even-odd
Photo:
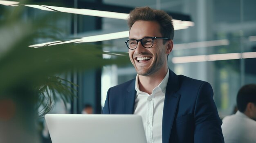
[[[256,121],[253,119],[237,111],[222,121],[225,143],[256,143]]]

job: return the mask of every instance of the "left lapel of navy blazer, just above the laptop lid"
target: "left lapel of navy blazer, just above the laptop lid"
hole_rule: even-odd
[[[135,104],[135,79],[131,81],[130,85],[127,86],[127,90],[124,94],[124,114],[133,114],[134,113],[134,104]]]

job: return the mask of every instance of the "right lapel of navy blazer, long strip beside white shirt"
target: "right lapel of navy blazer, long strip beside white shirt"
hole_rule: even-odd
[[[180,95],[176,94],[179,89],[178,77],[169,69],[169,79],[166,86],[164,99],[164,111],[162,121],[162,142],[169,143],[173,121],[175,119],[176,108],[180,100]]]

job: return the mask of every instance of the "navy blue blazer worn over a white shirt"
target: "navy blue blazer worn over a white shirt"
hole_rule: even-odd
[[[103,114],[133,114],[135,79],[108,90]],[[208,82],[169,69],[162,121],[163,143],[224,143],[213,90]]]

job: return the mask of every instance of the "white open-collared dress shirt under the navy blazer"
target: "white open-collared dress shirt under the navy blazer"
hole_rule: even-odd
[[[162,143],[162,119],[164,110],[164,97],[169,78],[169,70],[162,82],[153,89],[151,95],[139,90],[139,76],[136,76],[134,114],[142,117],[147,143]]]

